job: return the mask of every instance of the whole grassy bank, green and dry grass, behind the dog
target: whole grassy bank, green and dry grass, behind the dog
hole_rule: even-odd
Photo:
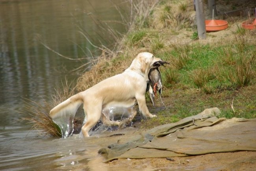
[[[149,111],[158,117],[141,120],[139,127],[151,128],[176,122],[211,107],[220,108],[222,113],[219,117],[256,118],[256,32],[237,25],[231,35],[221,39],[218,39],[219,35],[208,33],[207,36],[216,38],[216,41],[193,41],[198,39],[198,34],[193,32],[193,4],[187,2],[160,1],[158,7],[148,12],[148,16],[142,14],[135,17],[135,26],[122,42],[118,42],[119,53],[113,51],[109,55],[114,56],[112,59],[102,53],[100,59],[103,60],[78,79],[76,90],[85,90],[121,73],[137,53],[149,51],[170,63],[160,67],[162,98],[167,108],[160,108],[158,103],[155,108],[152,107],[146,95]],[[186,39],[185,34],[187,42],[182,40]],[[61,101],[59,97],[62,96],[57,93],[53,99]],[[232,101],[234,110],[231,108]],[[40,111],[30,108],[34,115],[40,115]],[[41,112],[41,115],[47,115],[47,112]],[[31,122],[35,124],[35,121],[41,121],[41,118]],[[39,126],[44,127],[45,123],[39,123]]]

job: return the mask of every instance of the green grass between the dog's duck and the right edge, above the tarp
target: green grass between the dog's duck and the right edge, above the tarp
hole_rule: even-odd
[[[169,108],[143,127],[171,123],[218,107],[219,117],[256,118],[256,50],[246,34],[225,44],[171,44],[156,54],[171,66],[160,68]],[[233,101],[234,99],[234,101]],[[234,110],[231,108],[233,101]]]

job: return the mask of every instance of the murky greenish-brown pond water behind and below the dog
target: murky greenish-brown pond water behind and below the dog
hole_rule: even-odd
[[[86,68],[71,70],[87,63],[91,52],[97,56],[83,34],[96,46],[111,48],[115,39],[105,30],[125,33],[119,12],[128,16],[129,9],[122,0],[0,0],[0,169],[87,167],[95,143],[46,138],[17,121],[30,117],[26,99],[49,101],[61,81],[76,81]],[[69,60],[54,51],[87,59]]]

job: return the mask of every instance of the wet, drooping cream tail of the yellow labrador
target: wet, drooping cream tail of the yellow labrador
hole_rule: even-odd
[[[69,97],[50,111],[52,119],[60,118],[63,116],[75,116],[76,110],[83,103],[82,92]]]

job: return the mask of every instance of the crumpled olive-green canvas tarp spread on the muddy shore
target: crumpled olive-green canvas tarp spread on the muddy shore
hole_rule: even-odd
[[[256,119],[217,118],[218,108],[206,109],[114,143],[98,153],[106,162],[117,158],[164,158],[209,153],[256,151]],[[122,141],[118,141],[122,142]]]

